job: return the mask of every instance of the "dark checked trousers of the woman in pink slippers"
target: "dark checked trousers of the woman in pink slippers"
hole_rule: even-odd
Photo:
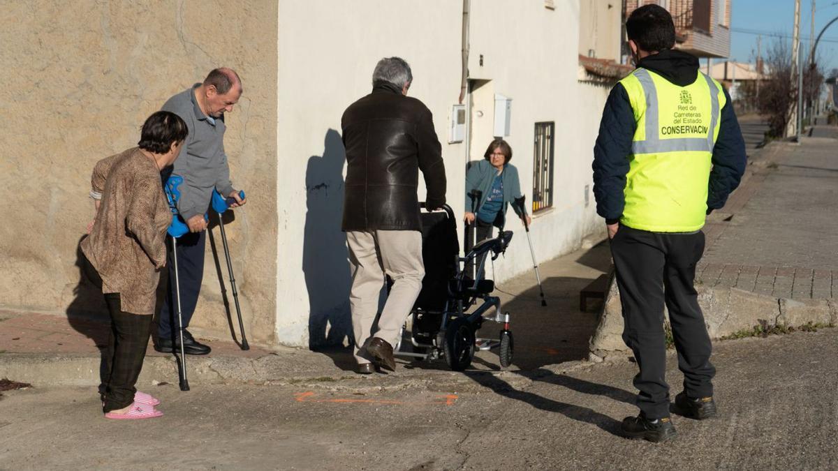
[[[134,401],[153,316],[122,311],[118,292],[106,294],[105,302],[111,313],[111,335],[102,352],[99,393],[105,401],[104,411],[110,412]]]

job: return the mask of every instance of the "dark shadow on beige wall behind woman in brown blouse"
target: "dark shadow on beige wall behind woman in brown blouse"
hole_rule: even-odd
[[[79,268],[79,282],[73,288],[73,301],[67,306],[70,326],[93,341],[99,349],[106,347],[111,318],[101,292],[101,278],[81,251],[82,235],[75,249],[75,267]]]

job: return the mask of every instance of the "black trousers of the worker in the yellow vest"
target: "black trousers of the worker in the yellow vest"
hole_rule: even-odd
[[[640,410],[650,419],[669,416],[664,305],[686,395],[712,396],[716,369],[710,363],[710,336],[693,286],[696,263],[704,254],[704,233],[665,234],[620,225],[611,253],[623,304],[623,340],[640,368],[634,376]]]

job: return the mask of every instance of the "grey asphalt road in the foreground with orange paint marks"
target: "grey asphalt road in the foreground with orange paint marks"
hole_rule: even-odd
[[[0,468],[835,469],[838,331],[716,344],[721,417],[618,435],[628,360],[566,374],[405,370],[287,386],[155,386],[165,416],[106,421],[93,388],[5,393]],[[668,380],[680,391],[670,357]]]

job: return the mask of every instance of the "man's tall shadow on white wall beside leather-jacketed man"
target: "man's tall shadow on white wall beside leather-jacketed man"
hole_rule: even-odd
[[[308,345],[352,342],[349,251],[340,230],[346,154],[339,132],[329,129],[323,156],[308,158],[303,273],[308,289]]]

